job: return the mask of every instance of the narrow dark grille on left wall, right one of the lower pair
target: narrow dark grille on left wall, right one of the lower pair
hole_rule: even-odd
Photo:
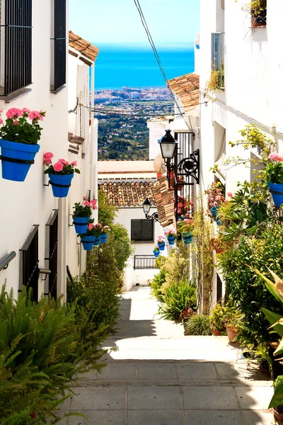
[[[48,268],[51,271],[48,276],[48,293],[57,300],[57,256],[58,256],[58,210],[54,210],[54,214],[47,222],[48,239],[49,239],[49,256],[45,261],[49,261]]]

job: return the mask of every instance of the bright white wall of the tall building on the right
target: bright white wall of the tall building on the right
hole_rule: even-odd
[[[201,185],[202,191],[214,181],[209,171],[214,166],[219,146],[219,125],[226,129],[226,157],[250,158],[242,147],[230,147],[229,141],[241,139],[239,131],[255,123],[269,137],[276,127],[277,148],[283,152],[281,98],[283,92],[282,34],[279,24],[283,13],[281,0],[267,1],[267,26],[251,28],[250,13],[243,11],[246,1],[201,0],[200,23],[200,102],[211,69],[211,33],[225,33],[224,67],[225,90],[212,96],[208,106],[200,106],[201,127]],[[207,99],[206,99],[207,100]],[[217,145],[217,146],[216,146]],[[235,166],[226,171],[226,192],[235,193],[238,181],[250,181],[250,168]],[[216,278],[215,278],[216,284]],[[213,291],[213,304],[216,290]]]

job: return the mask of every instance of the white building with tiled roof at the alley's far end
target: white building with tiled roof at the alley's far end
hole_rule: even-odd
[[[99,161],[98,186],[108,197],[110,205],[116,205],[115,222],[127,228],[134,254],[125,270],[122,290],[133,285],[147,285],[156,274],[153,249],[163,228],[154,220],[146,220],[142,203],[146,198],[152,203],[149,214],[156,212],[154,184],[156,171],[153,161]],[[167,255],[167,247],[163,255]]]

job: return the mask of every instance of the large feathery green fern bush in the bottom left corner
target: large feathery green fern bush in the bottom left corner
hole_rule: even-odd
[[[96,348],[103,336],[93,330],[88,314],[60,300],[34,303],[30,294],[23,288],[15,301],[3,287],[0,295],[0,423],[5,425],[56,420],[54,409],[71,395],[78,375],[103,366],[97,361],[105,351]]]

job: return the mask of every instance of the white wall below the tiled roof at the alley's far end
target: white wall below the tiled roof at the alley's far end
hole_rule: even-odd
[[[156,212],[156,208],[151,208],[150,214]],[[131,220],[134,219],[145,219],[144,210],[139,207],[119,208],[115,222],[124,225],[127,228],[129,238],[131,237]],[[134,255],[153,255],[153,249],[156,245],[158,236],[163,236],[163,227],[158,222],[154,224],[154,242],[135,242],[132,244],[134,248]],[[162,251],[162,255],[167,256],[168,247]],[[125,270],[125,285],[122,288],[123,291],[127,291],[132,288],[133,285],[139,283],[139,285],[147,285],[148,280],[154,278],[154,275],[158,273],[157,270],[134,270],[134,255],[129,259],[128,266]]]

